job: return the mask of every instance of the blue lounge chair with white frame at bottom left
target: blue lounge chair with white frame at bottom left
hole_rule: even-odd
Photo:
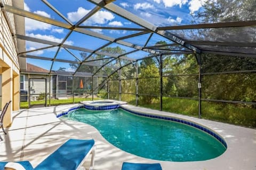
[[[35,170],[75,170],[81,167],[85,159],[92,154],[90,169],[94,165],[94,140],[69,139],[50,156],[45,158],[43,162],[35,167]],[[25,164],[25,168],[34,169],[29,162],[18,162]],[[7,162],[0,162],[0,169],[3,169]],[[29,166],[30,164],[30,166]]]

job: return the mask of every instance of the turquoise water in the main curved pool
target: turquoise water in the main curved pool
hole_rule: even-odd
[[[226,150],[217,139],[189,125],[133,115],[123,109],[81,108],[64,117],[94,126],[117,148],[145,158],[189,162],[212,159]]]

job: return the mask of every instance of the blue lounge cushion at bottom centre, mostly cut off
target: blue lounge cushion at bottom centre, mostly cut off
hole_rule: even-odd
[[[123,163],[122,170],[162,170],[162,167],[159,163],[156,163],[156,164]]]

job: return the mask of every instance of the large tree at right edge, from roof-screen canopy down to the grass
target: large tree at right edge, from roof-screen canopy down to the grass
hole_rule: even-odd
[[[208,0],[202,10],[193,14],[200,23],[250,21],[255,20],[256,0]],[[198,37],[208,41],[248,42],[256,41],[255,27],[212,28],[186,32],[187,36]],[[183,32],[185,34],[185,32]],[[197,38],[198,39],[198,38]],[[227,52],[254,50],[251,47],[221,47]],[[256,60],[250,57],[235,57],[214,54],[202,54],[202,72],[230,72],[255,70]],[[204,75],[202,78],[203,98],[220,100],[253,101],[256,96],[255,73],[227,73]]]

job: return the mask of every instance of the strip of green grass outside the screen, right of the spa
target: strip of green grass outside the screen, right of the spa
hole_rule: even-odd
[[[131,103],[132,104],[132,103]],[[139,106],[159,110],[159,100]],[[198,117],[198,101],[163,97],[163,111]],[[202,118],[223,123],[256,128],[256,108],[253,105],[202,101]]]

